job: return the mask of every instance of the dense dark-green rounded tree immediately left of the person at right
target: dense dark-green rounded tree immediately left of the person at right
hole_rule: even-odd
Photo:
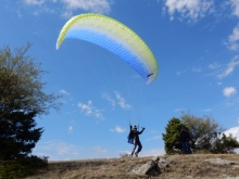
[[[164,150],[166,154],[175,154],[179,152],[176,145],[183,127],[186,128],[178,118],[173,117],[168,122],[165,128],[166,133],[163,133]]]

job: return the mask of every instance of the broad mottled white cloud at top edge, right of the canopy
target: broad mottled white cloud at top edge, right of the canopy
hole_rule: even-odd
[[[213,11],[213,0],[166,0],[165,7],[171,20],[174,20],[174,14],[177,12],[181,17],[197,21]]]

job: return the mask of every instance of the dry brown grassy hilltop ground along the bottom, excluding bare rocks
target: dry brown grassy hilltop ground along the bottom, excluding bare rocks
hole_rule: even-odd
[[[164,170],[158,168],[148,176],[131,172],[134,168],[142,166],[150,158],[152,157],[49,162],[48,169],[41,170],[27,179],[229,179],[229,177],[239,177],[238,154],[173,155],[168,156],[172,163]],[[205,161],[209,158],[228,159],[236,164],[211,164]]]

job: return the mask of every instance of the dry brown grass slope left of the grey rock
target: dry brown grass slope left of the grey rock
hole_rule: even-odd
[[[27,179],[144,178],[129,172],[149,159],[150,157],[49,162],[48,169]]]

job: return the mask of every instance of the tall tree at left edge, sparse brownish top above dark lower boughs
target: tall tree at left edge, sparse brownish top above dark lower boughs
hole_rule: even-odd
[[[59,97],[43,91],[41,64],[26,55],[30,47],[0,50],[0,161],[28,155],[43,132],[34,117],[60,107]]]

